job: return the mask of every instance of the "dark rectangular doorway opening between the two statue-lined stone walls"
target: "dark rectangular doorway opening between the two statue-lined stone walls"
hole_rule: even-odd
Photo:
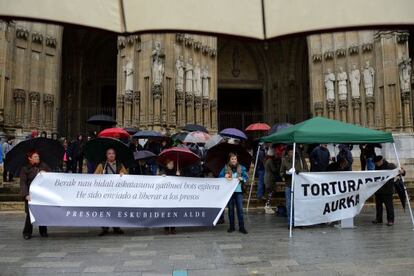
[[[263,120],[259,89],[219,89],[217,102],[219,129],[244,130],[249,124]]]

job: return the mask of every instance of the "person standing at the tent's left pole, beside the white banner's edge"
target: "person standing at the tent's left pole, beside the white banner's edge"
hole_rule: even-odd
[[[286,213],[287,213],[287,221],[288,226],[290,226],[290,197],[292,191],[292,173],[300,173],[300,172],[307,172],[308,165],[306,161],[301,157],[300,154],[296,155],[295,158],[295,170],[292,171],[293,167],[293,146],[288,146],[286,148],[286,157],[283,158],[282,164],[280,165],[280,175],[282,176],[285,182],[285,198],[286,198]]]

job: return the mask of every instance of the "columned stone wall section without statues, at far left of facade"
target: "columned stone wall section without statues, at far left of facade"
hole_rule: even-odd
[[[63,28],[0,22],[0,129],[24,136],[57,130]]]

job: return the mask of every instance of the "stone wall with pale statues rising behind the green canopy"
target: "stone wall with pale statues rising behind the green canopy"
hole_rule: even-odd
[[[410,77],[404,80],[411,75],[408,32],[315,34],[308,36],[308,49],[315,116],[412,132]]]

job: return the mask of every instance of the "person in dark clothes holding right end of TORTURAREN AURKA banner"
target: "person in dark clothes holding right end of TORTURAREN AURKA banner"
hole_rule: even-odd
[[[375,170],[394,170],[395,164],[388,162],[381,155],[374,157]],[[405,170],[400,169],[400,174],[405,175]],[[374,224],[382,223],[382,205],[385,205],[387,211],[387,226],[394,225],[394,205],[392,197],[394,195],[394,179],[390,179],[375,193],[376,218],[372,221]]]

